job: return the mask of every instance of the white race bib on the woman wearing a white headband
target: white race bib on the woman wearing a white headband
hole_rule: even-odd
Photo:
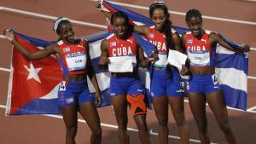
[[[75,53],[66,55],[67,67],[69,71],[76,71],[85,68],[86,65],[86,54],[82,53]]]

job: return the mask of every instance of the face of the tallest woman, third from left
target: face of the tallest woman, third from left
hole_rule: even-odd
[[[163,9],[154,9],[151,20],[154,22],[154,27],[161,30],[166,22],[166,14]]]

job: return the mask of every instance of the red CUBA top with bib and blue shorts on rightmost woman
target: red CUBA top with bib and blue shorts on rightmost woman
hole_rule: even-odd
[[[186,50],[192,67],[214,66],[216,48],[209,42],[209,31],[205,31],[201,39],[194,37],[191,32],[186,33]],[[188,92],[203,93],[205,95],[219,90],[218,80],[213,75],[192,75],[187,86]]]

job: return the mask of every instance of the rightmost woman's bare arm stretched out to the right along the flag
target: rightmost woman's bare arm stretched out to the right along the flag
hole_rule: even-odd
[[[236,53],[242,53],[242,52],[248,52],[250,51],[250,47],[245,44],[242,46],[242,49],[236,49],[233,48],[229,43],[226,43],[222,37],[219,37],[219,35],[215,32],[211,32],[210,34],[210,43],[213,45],[214,43],[218,43],[221,46],[223,46],[225,49],[230,49],[231,51],[234,51]]]

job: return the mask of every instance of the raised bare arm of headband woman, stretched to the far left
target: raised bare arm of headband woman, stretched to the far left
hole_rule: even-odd
[[[20,51],[21,55],[24,55],[26,59],[28,60],[38,60],[42,59],[44,57],[47,57],[49,55],[55,54],[56,53],[56,48],[58,47],[56,43],[50,44],[48,47],[46,47],[43,50],[39,50],[38,52],[32,53],[26,48],[22,47],[20,43],[17,41],[15,38],[15,35],[13,32],[9,31],[9,29],[4,29],[3,30],[3,35],[11,42],[14,44],[15,48]]]

